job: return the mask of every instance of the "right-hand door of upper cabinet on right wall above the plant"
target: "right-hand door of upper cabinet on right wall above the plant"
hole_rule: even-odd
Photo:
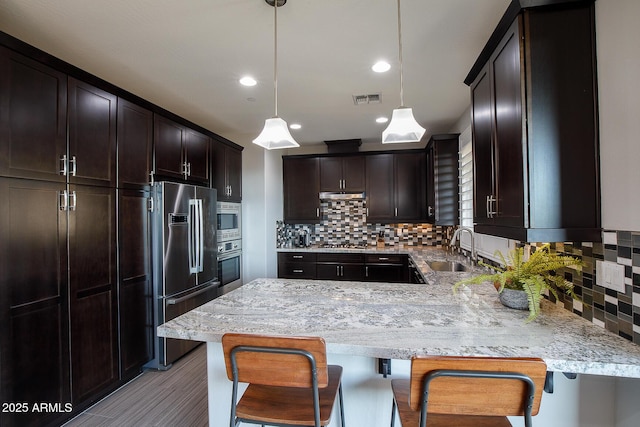
[[[498,47],[492,62],[495,117],[495,196],[501,225],[524,225],[522,87],[519,20]]]

